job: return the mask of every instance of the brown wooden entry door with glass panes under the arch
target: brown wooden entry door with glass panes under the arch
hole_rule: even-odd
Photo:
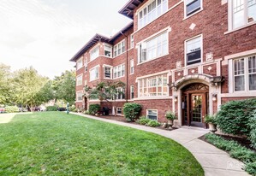
[[[203,118],[205,116],[206,109],[205,94],[191,94],[189,105],[189,116],[191,126],[203,127]]]

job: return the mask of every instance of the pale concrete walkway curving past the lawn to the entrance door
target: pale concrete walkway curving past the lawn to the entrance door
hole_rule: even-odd
[[[72,113],[78,114],[78,113]],[[219,150],[211,144],[205,143],[204,141],[198,139],[199,137],[205,135],[208,130],[187,127],[184,126],[180,129],[174,131],[166,131],[158,128],[134,125],[130,123],[125,123],[116,120],[107,120],[103,118],[94,117],[91,115],[78,114],[93,120],[101,120],[108,123],[117,124],[120,126],[128,126],[138,130],[143,130],[146,132],[153,132],[158,135],[164,136],[175,140],[177,143],[182,144],[187,148],[199,161],[200,165],[205,171],[205,176],[246,176],[249,175],[241,168],[244,166],[241,161],[237,161],[229,156],[223,150]]]

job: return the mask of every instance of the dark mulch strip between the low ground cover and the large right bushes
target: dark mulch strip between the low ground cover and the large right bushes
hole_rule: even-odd
[[[256,152],[256,150],[253,149],[253,147],[250,146],[251,143],[250,143],[249,140],[247,140],[247,138],[236,138],[236,137],[230,137],[230,136],[221,135],[221,134],[216,134],[216,135],[219,136],[219,137],[222,137],[222,138],[224,138],[224,139],[226,139],[226,140],[229,140],[229,141],[230,141],[230,140],[233,140],[233,141],[237,142],[238,144],[241,144],[241,146],[244,146],[244,147],[246,147],[247,149],[253,150],[253,151]],[[209,143],[209,142],[206,140],[205,135],[199,137],[199,139],[205,141],[206,143]],[[211,143],[209,143],[209,144],[211,144]]]

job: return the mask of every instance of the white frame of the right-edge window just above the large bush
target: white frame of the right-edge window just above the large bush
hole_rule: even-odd
[[[231,64],[231,65],[229,65],[229,67],[231,66],[230,70],[232,71],[232,73],[229,74],[229,75],[232,76],[232,79],[230,80],[230,82],[232,84],[232,92],[235,92],[235,93],[256,92],[256,90],[250,90],[249,89],[249,75],[252,74],[252,73],[249,73],[248,61],[249,61],[249,58],[253,57],[253,56],[256,57],[256,54],[251,55],[251,56],[241,56],[241,57],[229,60],[229,64]],[[244,73],[241,74],[244,77],[244,91],[235,91],[235,60],[240,60],[240,59],[244,59]]]

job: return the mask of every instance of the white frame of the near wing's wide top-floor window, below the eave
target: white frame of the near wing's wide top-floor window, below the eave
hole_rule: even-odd
[[[156,2],[156,7],[155,9],[151,9],[152,3],[154,1]],[[166,6],[164,6],[163,3],[165,3]],[[147,26],[148,24],[152,23],[152,21],[155,21],[160,16],[164,15],[169,9],[168,3],[169,3],[168,0],[161,0],[160,5],[158,5],[158,0],[150,0],[145,5],[143,5],[140,9],[138,9],[137,11],[138,29],[140,30],[142,27]],[[149,12],[150,9],[151,11]],[[142,18],[140,18],[141,14],[142,14]]]

